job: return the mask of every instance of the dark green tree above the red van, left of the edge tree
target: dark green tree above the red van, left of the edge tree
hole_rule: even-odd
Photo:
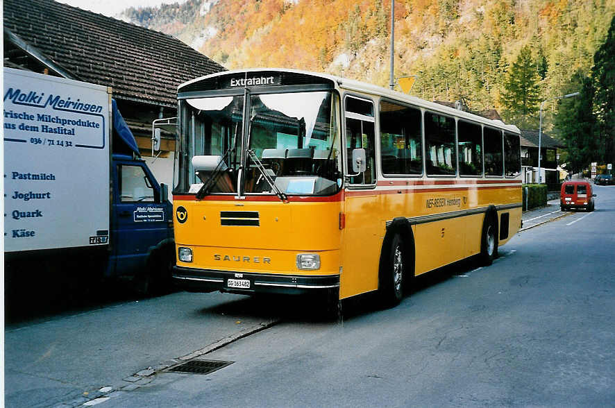
[[[571,171],[587,169],[589,163],[598,160],[596,150],[598,144],[594,135],[596,117],[593,114],[594,87],[591,78],[577,71],[573,76],[568,92],[578,90],[582,84],[581,93],[575,98],[560,99],[555,115],[555,129],[566,144],[568,166]]]

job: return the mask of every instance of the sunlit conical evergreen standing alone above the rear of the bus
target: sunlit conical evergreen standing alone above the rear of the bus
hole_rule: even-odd
[[[530,46],[523,46],[510,67],[500,102],[507,109],[507,117],[515,121],[528,121],[538,112],[540,83]]]

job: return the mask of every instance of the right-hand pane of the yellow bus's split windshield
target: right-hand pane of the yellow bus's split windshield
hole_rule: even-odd
[[[335,194],[342,185],[337,99],[332,92],[253,95],[246,194]],[[262,164],[262,165],[261,165]]]

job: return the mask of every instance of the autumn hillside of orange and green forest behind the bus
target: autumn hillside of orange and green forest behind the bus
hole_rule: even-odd
[[[175,35],[229,69],[291,67],[386,86],[390,7],[390,0],[189,0],[130,9],[124,18]],[[614,15],[615,0],[398,0],[395,76],[418,76],[412,94],[424,99],[462,99],[531,125],[535,109],[520,114],[507,103],[514,62],[523,57],[534,71],[538,100],[561,95],[573,74],[589,74]]]

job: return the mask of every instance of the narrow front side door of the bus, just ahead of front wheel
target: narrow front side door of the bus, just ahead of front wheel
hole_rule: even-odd
[[[340,298],[378,289],[378,262],[384,232],[376,194],[376,136],[373,102],[344,99],[346,120],[346,228],[342,248]],[[353,171],[353,151],[365,152],[364,171]]]

